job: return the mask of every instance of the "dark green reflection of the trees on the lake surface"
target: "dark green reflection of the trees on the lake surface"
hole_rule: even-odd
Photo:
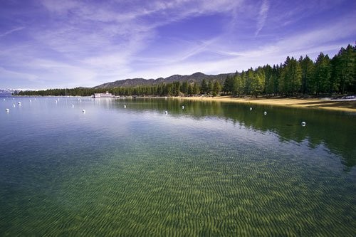
[[[127,110],[141,112],[153,110],[164,113],[167,110],[170,116],[198,120],[219,117],[253,130],[276,133],[281,141],[307,141],[310,148],[323,144],[330,152],[340,155],[346,170],[356,164],[356,113],[157,98],[95,100],[95,103],[117,109],[127,104],[130,105]],[[265,111],[267,115],[264,115]],[[305,122],[306,126],[301,126],[301,122]]]

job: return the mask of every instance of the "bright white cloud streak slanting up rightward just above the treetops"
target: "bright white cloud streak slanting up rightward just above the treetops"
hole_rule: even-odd
[[[225,48],[213,42],[211,49],[201,46],[196,51],[192,51],[189,57],[181,58],[172,56],[172,58],[155,58],[155,69],[140,70],[135,72],[135,77],[147,75],[147,78],[155,78],[155,75],[163,77],[172,74],[191,74],[201,71],[207,74],[218,74],[234,72],[236,70],[247,70],[248,68],[257,68],[266,64],[279,64],[286,60],[287,56],[299,58],[308,54],[310,58],[315,59],[320,51],[333,54],[340,49],[342,39],[345,39],[342,46],[347,45],[350,36],[356,32],[356,26],[348,26],[352,16],[345,17],[340,21],[335,21],[328,28],[310,28],[302,33],[294,33],[286,38],[281,38],[276,42],[267,42],[261,44],[258,48],[248,48],[242,51],[234,51],[234,48]],[[220,50],[219,50],[220,48]],[[229,50],[230,49],[230,50]],[[204,51],[215,51],[222,57],[220,59],[209,60],[201,58],[200,60],[191,60],[196,53]],[[179,61],[178,61],[179,60]]]

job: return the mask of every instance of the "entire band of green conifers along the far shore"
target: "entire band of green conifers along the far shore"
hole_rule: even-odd
[[[119,88],[73,88],[49,89],[38,91],[20,91],[16,95],[80,95],[109,91],[115,95],[155,95],[155,96],[189,96],[189,95],[346,95],[356,93],[356,46],[341,48],[333,57],[320,53],[315,62],[308,56],[286,58],[280,65],[264,65],[250,68],[241,73],[227,76],[224,86],[219,80],[205,80],[200,84],[160,83],[158,85],[137,85]]]

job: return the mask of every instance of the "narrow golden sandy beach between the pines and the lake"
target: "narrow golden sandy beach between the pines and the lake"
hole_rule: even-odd
[[[180,100],[199,100],[216,102],[237,102],[254,105],[273,105],[281,107],[298,107],[318,110],[337,110],[343,112],[356,112],[356,101],[345,100],[320,100],[300,98],[231,98],[230,96],[218,97],[172,97]]]

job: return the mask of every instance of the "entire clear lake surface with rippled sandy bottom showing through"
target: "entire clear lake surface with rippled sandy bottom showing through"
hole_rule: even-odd
[[[1,236],[356,236],[355,113],[1,98],[0,122]]]

